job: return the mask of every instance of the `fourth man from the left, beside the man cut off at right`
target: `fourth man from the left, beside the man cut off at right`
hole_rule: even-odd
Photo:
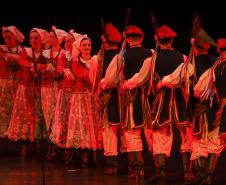
[[[212,38],[200,28],[197,33],[194,34],[192,38],[192,46],[194,53],[194,83],[200,76],[209,68],[211,68],[216,61],[215,56],[208,53],[209,47],[213,45],[216,46]],[[215,98],[216,99],[216,98]],[[190,183],[197,183],[201,181],[205,176],[207,167],[207,157],[208,157],[208,130],[213,129],[213,120],[215,117],[217,104],[214,103],[213,106],[206,109],[200,99],[194,99],[191,96],[192,108],[196,108],[196,114],[193,112],[193,144],[192,144],[192,155],[191,160],[194,161],[195,168],[197,170],[197,178]],[[205,109],[203,109],[205,108]]]

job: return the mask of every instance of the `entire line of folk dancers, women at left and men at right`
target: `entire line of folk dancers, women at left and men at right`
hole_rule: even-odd
[[[2,91],[4,96],[1,102],[8,106],[1,106],[1,109],[12,109],[8,114],[4,112],[6,109],[2,111],[5,113],[2,118],[8,116],[10,120],[8,137],[13,140],[33,141],[39,138],[40,134],[43,137],[46,131],[53,143],[52,154],[56,152],[55,146],[96,150],[103,144],[108,164],[105,172],[109,174],[113,172],[113,161],[118,155],[119,130],[120,151],[128,153],[130,161],[129,176],[140,177],[144,172],[141,153],[141,131],[144,130],[155,161],[155,174],[150,178],[150,182],[153,182],[165,178],[166,158],[170,157],[172,127],[175,124],[181,135],[186,183],[211,183],[217,159],[224,148],[222,83],[225,78],[222,56],[225,40],[219,40],[221,57],[215,63],[216,57],[207,54],[209,46],[214,42],[201,37],[202,33],[205,33],[203,29],[196,33],[188,58],[172,47],[177,34],[166,25],[157,29],[155,50],[142,47],[144,34],[136,26],[128,26],[123,33],[125,39],[121,50],[117,46],[121,42],[121,34],[112,24],[108,24],[105,29],[106,34],[102,37],[104,47],[95,57],[90,55],[91,40],[86,35],[74,33],[74,37],[70,34],[70,38],[73,38],[70,42],[74,43],[73,46],[68,46],[68,39],[66,46],[70,48],[71,54],[61,49],[60,43],[69,34],[56,28],[53,28],[48,36],[51,49],[40,52],[42,47],[39,47],[39,55],[35,46],[32,46],[34,49],[30,51],[22,50],[20,55],[10,54],[12,49],[9,49],[20,48],[19,46],[7,46],[5,49],[2,47],[1,64],[4,66],[1,68],[1,80],[4,87],[2,89],[5,91]],[[43,30],[37,28],[31,31],[31,45],[32,40],[34,42],[37,38],[41,39],[44,38],[43,35],[47,35],[41,31]],[[23,40],[22,34],[18,33],[15,27],[3,30],[3,36],[10,34],[11,38],[12,35],[17,38],[15,43]],[[7,41],[7,36],[4,36],[4,39]],[[43,44],[44,41],[39,43]],[[125,50],[126,43],[129,45],[128,50]],[[18,49],[16,50],[18,52]],[[64,54],[60,54],[61,52]],[[43,59],[38,61],[38,65],[34,60],[37,56]],[[195,62],[191,62],[194,56]],[[211,66],[213,67],[210,72],[203,73]],[[202,73],[204,76],[201,76]],[[100,83],[99,74],[102,75]],[[207,74],[211,74],[211,78],[206,77]],[[30,78],[32,75],[34,77]],[[193,83],[188,83],[190,81]],[[211,83],[211,86],[205,86],[207,82]],[[194,85],[194,93],[189,94],[189,86],[186,86],[188,84]],[[213,91],[210,89],[212,84],[216,84]],[[190,86],[190,89],[193,92],[193,87]],[[211,96],[211,109],[206,106],[208,101],[202,100],[206,89],[208,92],[214,92],[214,96]],[[6,97],[14,102],[10,104]],[[37,102],[39,105],[34,106]],[[43,123],[43,118],[38,117],[41,110],[46,124],[36,123],[40,120]],[[210,111],[208,117],[206,111]],[[100,115],[100,119],[97,119],[97,115]],[[7,125],[7,122],[5,123]],[[214,130],[208,133],[211,124],[214,124]],[[198,169],[195,177],[191,166],[193,161]]]

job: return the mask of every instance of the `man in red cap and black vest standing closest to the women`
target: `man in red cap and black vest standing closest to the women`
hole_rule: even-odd
[[[114,160],[118,155],[118,136],[117,130],[120,125],[120,112],[119,112],[119,94],[118,87],[111,86],[105,83],[105,75],[108,66],[113,57],[119,53],[118,43],[122,40],[120,32],[111,24],[105,26],[105,35],[102,36],[105,45],[104,63],[102,66],[102,92],[99,96],[99,111],[100,111],[100,124],[103,127],[103,148],[104,156],[106,159],[105,174],[112,174],[114,169]],[[115,61],[117,62],[117,61]],[[110,71],[108,71],[110,73]]]

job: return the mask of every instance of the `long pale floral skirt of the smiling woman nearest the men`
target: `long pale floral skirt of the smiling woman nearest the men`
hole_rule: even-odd
[[[71,94],[68,112],[67,148],[97,149],[93,97],[86,92]]]

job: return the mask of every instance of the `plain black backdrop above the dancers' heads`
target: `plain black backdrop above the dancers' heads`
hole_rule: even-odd
[[[94,54],[101,44],[101,17],[106,23],[112,22],[122,32],[127,8],[130,7],[129,23],[142,28],[145,33],[144,46],[153,48],[153,28],[149,16],[152,10],[159,25],[168,24],[178,33],[174,47],[188,54],[192,18],[196,13],[201,17],[203,28],[214,39],[226,36],[226,16],[222,4],[223,1],[218,0],[9,1],[7,5],[1,6],[1,14],[5,15],[0,16],[0,26],[16,25],[27,38],[33,27],[50,30],[55,25],[65,31],[74,29],[91,37]],[[28,39],[24,44],[28,45]]]

